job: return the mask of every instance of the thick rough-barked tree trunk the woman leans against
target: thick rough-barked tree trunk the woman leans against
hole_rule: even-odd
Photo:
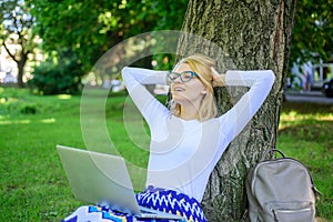
[[[296,0],[190,0],[178,54],[202,52],[218,60],[218,70],[271,69],[276,79],[263,107],[229,145],[211,174],[202,206],[209,221],[242,221],[246,209],[244,179],[262,153],[274,148]],[[216,46],[214,46],[216,44]],[[218,89],[225,112],[245,89]],[[246,216],[245,216],[246,218]]]

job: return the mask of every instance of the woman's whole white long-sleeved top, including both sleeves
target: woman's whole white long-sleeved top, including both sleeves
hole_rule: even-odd
[[[249,91],[221,117],[206,121],[174,117],[144,84],[165,84],[168,71],[124,68],[122,77],[151,133],[147,186],[170,189],[201,202],[209,176],[229,143],[264,102],[273,83],[271,70],[228,71],[228,85]]]

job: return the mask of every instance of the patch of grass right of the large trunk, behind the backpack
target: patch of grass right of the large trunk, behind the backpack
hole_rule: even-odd
[[[333,105],[284,103],[278,148],[304,163],[322,192],[316,214],[333,220]]]

